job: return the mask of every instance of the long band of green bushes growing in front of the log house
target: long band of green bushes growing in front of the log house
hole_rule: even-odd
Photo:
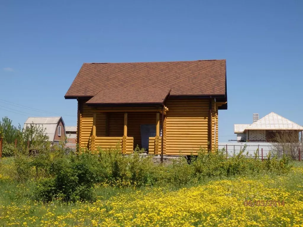
[[[96,185],[180,187],[214,177],[283,174],[291,167],[286,154],[282,158],[269,154],[262,162],[257,156],[245,154],[245,146],[238,155],[230,158],[226,157],[225,150],[207,152],[200,149],[198,155],[189,160],[180,156],[164,165],[155,165],[152,156],[141,156],[143,150],[138,147],[128,156],[122,155],[119,146],[108,150],[97,147],[94,153],[87,149],[70,152],[64,147],[65,141],[51,145],[45,130],[40,127],[30,125],[21,129],[19,126],[17,130],[9,119],[3,122],[2,131],[5,130],[5,138],[11,142],[7,143],[11,149],[6,155],[13,156],[14,171],[10,177],[19,183],[33,182],[35,190],[31,198],[42,202],[95,201]],[[12,143],[14,137],[18,138],[17,147]]]

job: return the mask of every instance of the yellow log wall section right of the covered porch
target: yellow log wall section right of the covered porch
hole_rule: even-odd
[[[166,154],[179,155],[181,150],[183,155],[190,155],[191,153],[197,154],[200,146],[207,149],[209,99],[169,99],[166,106],[169,110],[166,120]],[[215,143],[215,117],[217,121],[217,113],[213,112],[213,147]],[[216,141],[218,141],[217,138],[218,130]]]

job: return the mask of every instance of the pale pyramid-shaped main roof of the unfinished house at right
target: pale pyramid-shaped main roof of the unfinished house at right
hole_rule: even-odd
[[[245,128],[245,130],[303,130],[303,127],[271,112]]]

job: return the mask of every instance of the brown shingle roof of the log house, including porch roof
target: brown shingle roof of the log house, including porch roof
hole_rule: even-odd
[[[226,61],[84,63],[65,98],[88,103],[159,102],[171,96],[225,96]]]

